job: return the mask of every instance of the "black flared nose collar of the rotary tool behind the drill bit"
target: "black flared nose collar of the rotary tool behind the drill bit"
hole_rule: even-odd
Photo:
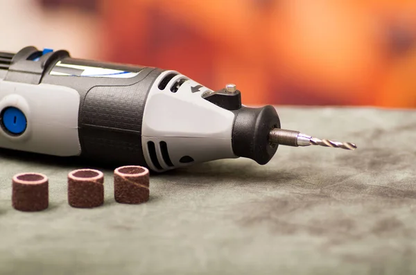
[[[253,159],[263,165],[275,155],[277,145],[270,145],[272,128],[280,128],[276,109],[270,105],[261,108],[241,107],[234,111],[232,149],[239,157]]]

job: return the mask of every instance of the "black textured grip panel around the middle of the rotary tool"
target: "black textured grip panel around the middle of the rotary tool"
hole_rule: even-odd
[[[141,124],[150,87],[160,71],[130,86],[98,86],[80,109],[83,155],[121,165],[147,166],[141,148]]]

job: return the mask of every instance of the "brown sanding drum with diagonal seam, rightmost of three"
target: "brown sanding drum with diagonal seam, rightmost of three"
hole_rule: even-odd
[[[114,199],[121,204],[141,204],[149,200],[149,170],[142,166],[122,166],[114,170]]]

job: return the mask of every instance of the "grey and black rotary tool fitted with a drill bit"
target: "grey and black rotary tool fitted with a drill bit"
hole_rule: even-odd
[[[146,166],[156,172],[245,157],[278,145],[354,143],[282,130],[275,107],[241,104],[174,70],[76,59],[68,51],[0,53],[0,148]]]

